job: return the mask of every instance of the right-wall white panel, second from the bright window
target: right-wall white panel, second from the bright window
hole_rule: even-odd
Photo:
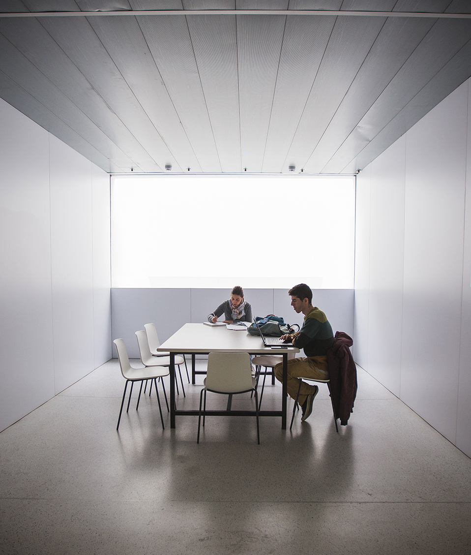
[[[371,164],[368,372],[394,395],[401,383],[406,137]]]

